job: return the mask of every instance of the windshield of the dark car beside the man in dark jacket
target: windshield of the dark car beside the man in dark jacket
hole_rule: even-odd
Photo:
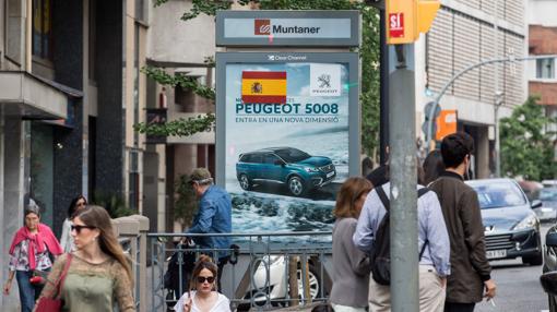
[[[472,185],[477,193],[482,209],[525,205],[520,189],[508,182]]]

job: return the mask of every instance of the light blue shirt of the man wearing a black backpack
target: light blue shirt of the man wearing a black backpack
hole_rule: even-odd
[[[391,183],[381,185],[386,194],[390,194]],[[418,185],[418,189],[423,188]],[[370,254],[374,250],[375,232],[379,224],[383,219],[387,211],[379,199],[379,195],[374,190],[371,191],[364,203],[362,213],[358,218],[358,225],[354,232],[354,244],[362,251]],[[432,265],[440,276],[448,276],[451,274],[451,244],[449,241],[449,233],[445,225],[445,218],[441,212],[441,205],[435,192],[427,192],[418,199],[418,250],[425,240],[428,240],[428,245],[424,251],[419,264]]]

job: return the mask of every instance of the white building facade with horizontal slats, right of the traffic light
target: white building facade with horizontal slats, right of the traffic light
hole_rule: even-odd
[[[526,56],[525,10],[522,0],[441,1],[431,29],[416,44],[417,124],[424,120],[424,105],[461,70],[489,59]],[[475,140],[476,178],[495,173],[496,119],[524,103],[524,67],[479,67],[455,80],[440,100],[441,109],[457,110],[458,129]]]

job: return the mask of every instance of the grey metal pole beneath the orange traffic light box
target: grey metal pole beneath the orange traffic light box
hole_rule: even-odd
[[[389,75],[391,181],[391,304],[393,312],[417,312],[418,248],[414,44],[398,45]]]

